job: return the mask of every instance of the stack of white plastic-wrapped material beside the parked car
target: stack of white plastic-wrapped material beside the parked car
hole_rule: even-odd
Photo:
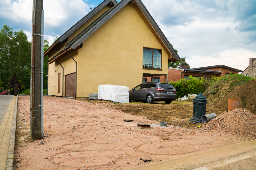
[[[99,85],[98,100],[111,100],[114,103],[129,103],[129,87],[122,85]]]

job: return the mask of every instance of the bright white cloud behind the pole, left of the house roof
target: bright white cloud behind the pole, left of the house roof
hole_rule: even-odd
[[[2,0],[0,18],[3,24],[25,28],[32,26],[32,0]],[[44,0],[44,31],[49,35],[62,34],[83,18],[90,7],[83,0]]]

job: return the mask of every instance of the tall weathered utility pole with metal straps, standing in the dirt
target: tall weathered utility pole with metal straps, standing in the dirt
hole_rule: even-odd
[[[43,0],[33,0],[31,77],[30,77],[30,137],[44,137],[43,129]]]

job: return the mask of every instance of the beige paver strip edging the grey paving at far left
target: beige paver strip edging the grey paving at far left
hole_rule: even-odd
[[[12,133],[7,157],[6,170],[13,170],[13,161],[14,161],[14,145],[15,145],[15,133],[16,133],[16,121],[17,121],[17,105],[18,105],[18,96],[16,98],[13,122],[12,122]]]

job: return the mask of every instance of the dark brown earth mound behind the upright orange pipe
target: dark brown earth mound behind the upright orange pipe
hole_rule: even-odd
[[[231,92],[226,93],[224,96],[220,95],[219,100],[217,99],[215,105],[224,110],[228,110],[228,99],[240,99],[240,108],[245,108],[256,115],[255,89],[256,80],[251,80],[241,86],[236,86]]]

